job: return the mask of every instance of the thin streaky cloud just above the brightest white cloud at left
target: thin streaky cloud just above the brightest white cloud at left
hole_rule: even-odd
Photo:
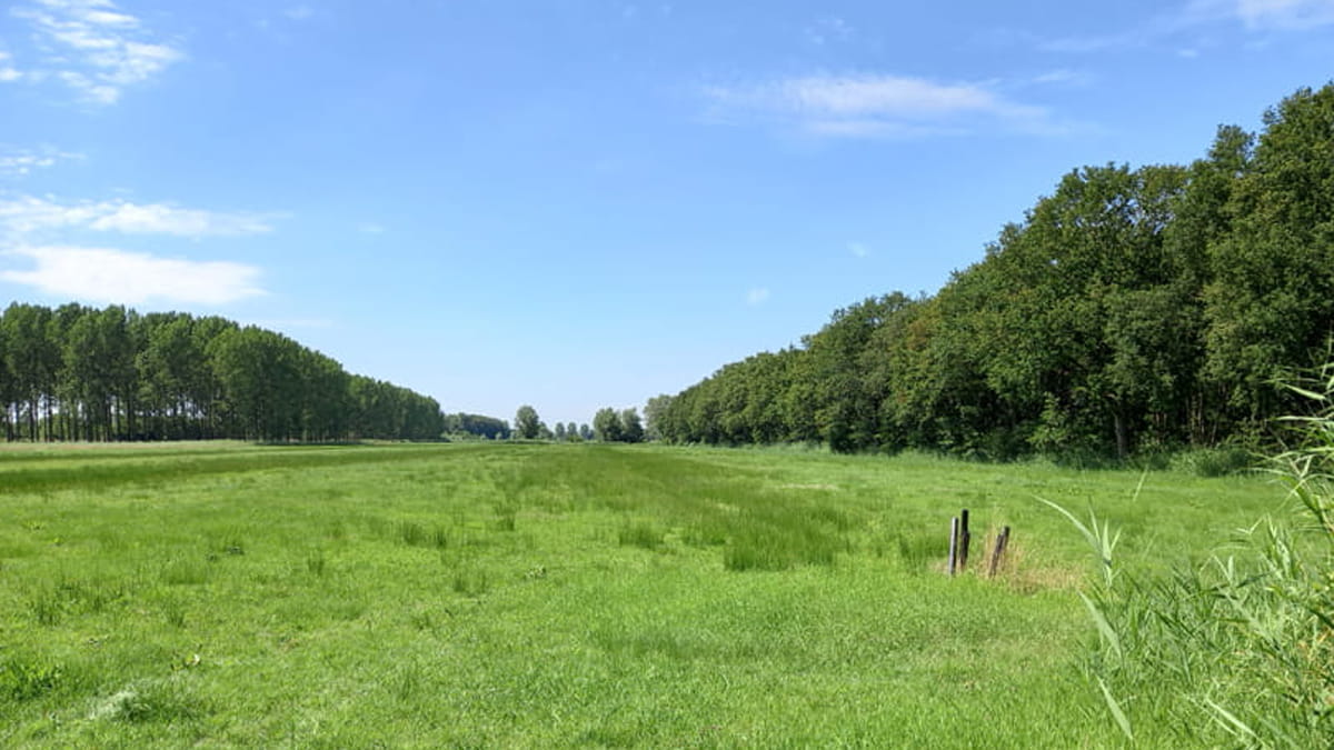
[[[20,235],[44,230],[184,238],[259,235],[272,231],[272,220],[276,218],[277,215],[271,214],[225,214],[125,200],[59,203],[35,196],[0,200],[0,227]]]

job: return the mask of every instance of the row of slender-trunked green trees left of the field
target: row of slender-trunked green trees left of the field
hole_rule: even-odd
[[[435,399],[281,334],[120,306],[9,304],[0,406],[7,440],[426,440],[446,427]]]

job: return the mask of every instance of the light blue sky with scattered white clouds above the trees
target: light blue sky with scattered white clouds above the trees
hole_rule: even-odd
[[[1334,0],[0,5],[0,303],[590,422],[1334,75]]]

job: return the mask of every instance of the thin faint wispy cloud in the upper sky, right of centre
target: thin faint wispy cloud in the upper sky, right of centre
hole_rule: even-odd
[[[987,85],[883,73],[818,75],[752,87],[704,89],[723,121],[767,120],[826,136],[918,137],[966,133],[980,121],[1007,131],[1065,129],[1045,107],[1013,101]]]

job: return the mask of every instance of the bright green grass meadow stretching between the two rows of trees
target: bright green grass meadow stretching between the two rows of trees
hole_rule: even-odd
[[[0,746],[1121,746],[1091,556],[1038,496],[1131,570],[1283,503],[914,455],[8,447]],[[1014,528],[996,579],[942,573],[960,507],[974,567]]]

